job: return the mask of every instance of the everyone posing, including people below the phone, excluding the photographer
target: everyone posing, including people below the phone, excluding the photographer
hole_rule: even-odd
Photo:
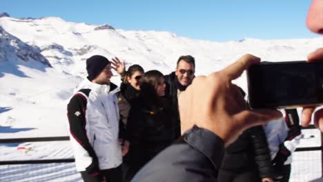
[[[186,132],[178,96],[195,78],[195,59],[179,57],[175,71],[164,75],[158,70],[144,72],[137,64],[126,70],[117,57],[109,61],[95,55],[86,60],[86,70],[88,77],[68,103],[77,171],[84,181],[131,181]],[[110,82],[112,70],[121,76],[119,87]],[[244,90],[239,90],[244,97]],[[301,132],[297,111],[285,112],[286,117],[280,119],[285,122],[250,128],[226,148],[219,181],[288,181],[288,156]]]

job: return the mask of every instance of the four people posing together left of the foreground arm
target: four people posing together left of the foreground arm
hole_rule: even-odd
[[[112,69],[121,76],[119,87],[110,82]],[[68,103],[77,170],[84,181],[130,181],[181,135],[177,95],[192,82],[195,59],[180,57],[176,71],[164,76],[95,55],[86,70]]]

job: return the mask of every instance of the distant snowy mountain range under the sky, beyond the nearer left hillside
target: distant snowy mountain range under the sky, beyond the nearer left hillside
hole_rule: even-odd
[[[129,63],[145,65],[148,70],[159,66],[163,72],[173,70],[180,55],[192,54],[197,59],[197,74],[205,74],[247,52],[267,61],[304,60],[309,52],[323,44],[320,38],[200,41],[171,32],[115,30],[108,25],[66,22],[58,17],[2,17],[0,26],[22,41],[39,46],[55,68],[72,74],[84,72],[84,60],[92,54],[118,56]]]

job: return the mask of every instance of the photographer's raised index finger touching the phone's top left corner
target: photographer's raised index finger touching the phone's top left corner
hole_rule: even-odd
[[[235,61],[235,63],[228,65],[224,70],[222,70],[222,74],[226,75],[228,79],[233,80],[240,77],[244,70],[248,69],[250,65],[256,64],[260,62],[259,57],[255,57],[251,54],[245,54],[243,57]]]

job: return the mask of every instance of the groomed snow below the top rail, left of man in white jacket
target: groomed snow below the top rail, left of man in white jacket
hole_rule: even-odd
[[[0,181],[83,181],[68,136],[0,139]]]

